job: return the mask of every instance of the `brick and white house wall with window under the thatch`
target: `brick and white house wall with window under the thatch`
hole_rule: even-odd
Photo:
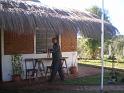
[[[68,34],[70,37],[68,37]],[[45,37],[44,37],[45,36]],[[22,57],[22,78],[25,79],[25,59],[42,59],[48,58],[47,50],[52,48],[52,38],[55,33],[36,32],[36,33],[15,33],[4,32],[1,30],[1,65],[2,65],[2,81],[12,80],[12,61],[11,56],[20,54]],[[73,39],[73,41],[71,41]],[[66,62],[68,69],[71,65],[77,66],[77,35],[76,33],[63,32],[58,35],[61,47],[62,57],[67,57]],[[52,57],[50,53],[50,57]],[[51,60],[44,61],[45,69],[51,65]],[[6,73],[5,73],[6,72]]]

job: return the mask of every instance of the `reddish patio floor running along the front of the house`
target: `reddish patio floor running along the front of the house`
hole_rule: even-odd
[[[93,76],[100,73],[100,69],[99,68],[94,68],[94,67],[86,67],[83,65],[78,65],[78,75],[74,76],[72,74],[70,74],[70,77],[68,77],[65,74],[65,80],[69,80],[69,79],[76,79],[76,78],[80,78],[80,77],[86,77],[86,76]],[[1,82],[0,83],[0,88],[1,89],[49,89],[49,88],[57,88],[59,86],[63,87],[63,82],[60,80],[59,76],[56,76],[55,81],[53,81],[53,83],[49,83],[47,82],[48,78],[42,77],[42,78],[38,78],[38,79],[32,79],[31,81],[29,80],[22,80],[21,82]],[[54,87],[53,87],[54,86]],[[58,87],[58,88],[61,88]],[[65,87],[64,87],[65,88]],[[66,88],[65,88],[66,89]]]

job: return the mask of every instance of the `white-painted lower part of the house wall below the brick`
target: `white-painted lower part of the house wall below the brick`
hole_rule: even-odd
[[[77,65],[77,52],[63,52],[63,57],[67,58],[67,65],[70,67],[72,64]],[[47,54],[23,54],[23,70],[25,71],[24,59],[25,58],[44,58],[47,57]],[[51,62],[44,62],[45,66],[50,65]],[[12,65],[11,65],[11,56],[3,55],[2,56],[2,79],[3,81],[10,81],[12,75]]]

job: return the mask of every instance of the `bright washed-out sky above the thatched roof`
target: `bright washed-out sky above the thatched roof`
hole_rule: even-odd
[[[102,0],[40,0],[41,3],[61,9],[85,10],[93,5],[101,7]],[[111,23],[124,35],[124,0],[104,0]]]

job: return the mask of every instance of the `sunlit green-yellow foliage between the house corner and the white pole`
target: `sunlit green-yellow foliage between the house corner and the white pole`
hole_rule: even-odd
[[[100,42],[91,38],[78,38],[78,54],[80,57],[97,59],[99,56]]]

